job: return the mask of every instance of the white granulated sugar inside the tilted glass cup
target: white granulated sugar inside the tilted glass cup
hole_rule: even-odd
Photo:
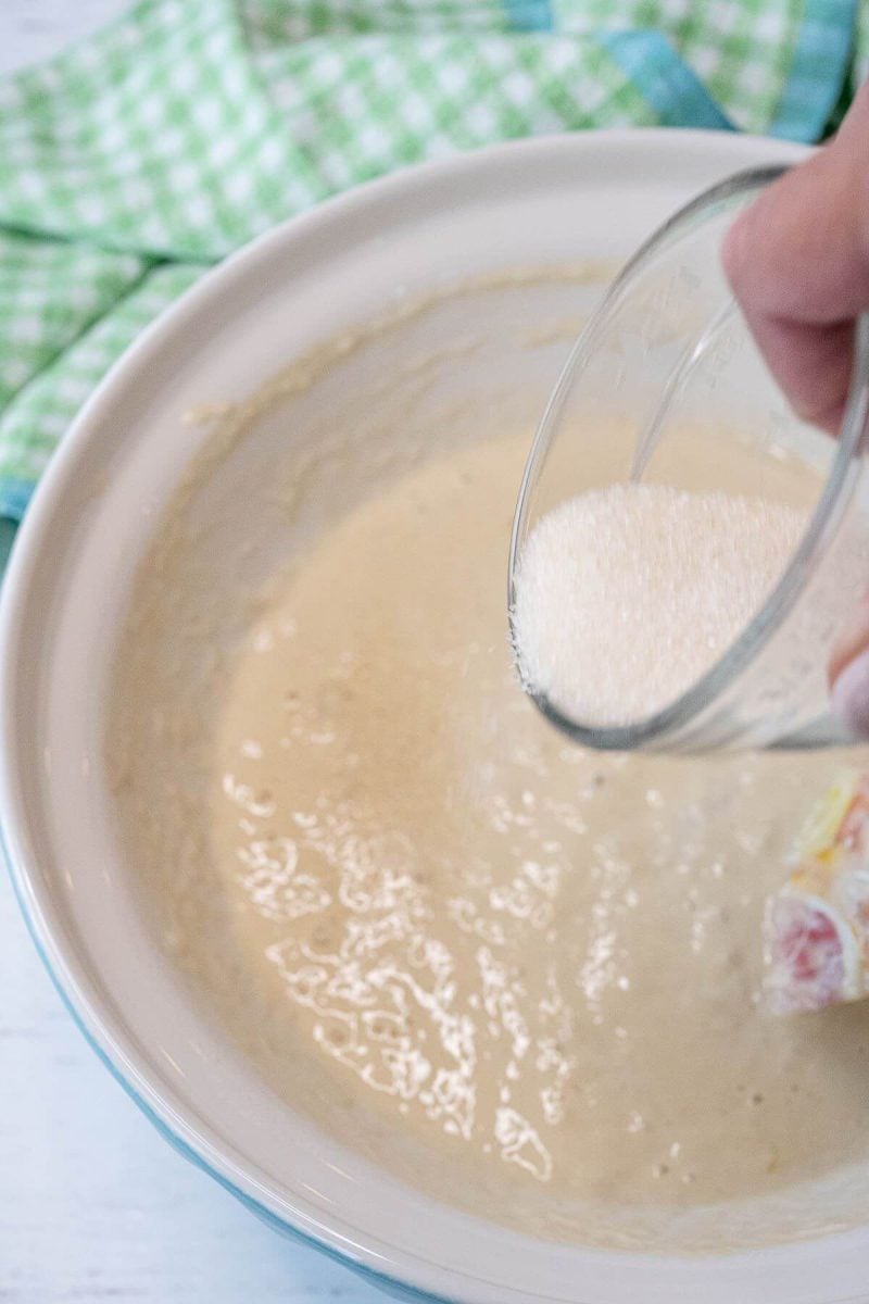
[[[658,484],[562,503],[533,531],[516,579],[525,686],[577,722],[661,711],[754,615],[804,527],[780,503]]]

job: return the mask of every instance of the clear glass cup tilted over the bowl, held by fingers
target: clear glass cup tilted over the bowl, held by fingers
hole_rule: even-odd
[[[532,691],[585,746],[677,752],[852,741],[830,713],[826,665],[869,587],[869,317],[857,323],[848,403],[833,439],[788,409],[720,267],[734,218],[783,171],[730,177],[651,236],[580,335],[534,438],[511,540],[511,632],[529,533],[577,493],[654,479],[787,501],[799,480],[806,510],[803,537],[761,609],[663,709],[601,725]]]

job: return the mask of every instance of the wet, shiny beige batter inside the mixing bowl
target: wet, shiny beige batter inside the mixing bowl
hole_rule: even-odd
[[[663,1244],[644,1211],[780,1192],[761,1239],[812,1232],[836,1219],[791,1188],[869,1159],[869,1007],[761,1013],[758,928],[840,758],[602,756],[546,725],[506,631],[526,446],[326,532],[261,596],[214,734],[165,709],[171,571],[145,583],[117,788],[167,945],[292,1106],[455,1204]]]

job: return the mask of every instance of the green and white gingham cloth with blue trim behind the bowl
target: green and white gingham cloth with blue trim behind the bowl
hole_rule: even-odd
[[[145,0],[0,80],[0,516],[211,263],[406,163],[668,125],[818,140],[869,0]]]

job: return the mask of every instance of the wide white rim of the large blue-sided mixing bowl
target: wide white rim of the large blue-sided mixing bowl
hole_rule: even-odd
[[[869,1228],[706,1258],[524,1237],[427,1198],[318,1132],[198,1012],[145,918],[100,763],[132,576],[205,437],[180,415],[241,398],[314,342],[449,282],[621,258],[726,173],[799,156],[726,134],[589,133],[408,171],[289,222],[206,276],[119,363],[64,442],[14,550],[0,630],[0,807],[46,964],[94,1047],[164,1134],[276,1227],[408,1297],[829,1304],[866,1288]],[[465,351],[435,370],[425,402],[436,407],[440,387],[464,386],[466,395],[474,368],[486,368],[486,402],[515,402],[533,420],[567,347],[547,344],[543,327],[564,314],[569,293],[558,280],[517,289],[528,365],[509,351],[500,364],[499,349]],[[490,304],[483,291],[465,304],[466,329],[481,338]],[[310,419],[300,413],[297,437]],[[231,460],[221,475],[242,463]],[[215,503],[235,502],[238,512],[249,486],[235,498],[232,488],[224,484]],[[229,526],[223,535],[215,527],[215,548],[229,544]]]

